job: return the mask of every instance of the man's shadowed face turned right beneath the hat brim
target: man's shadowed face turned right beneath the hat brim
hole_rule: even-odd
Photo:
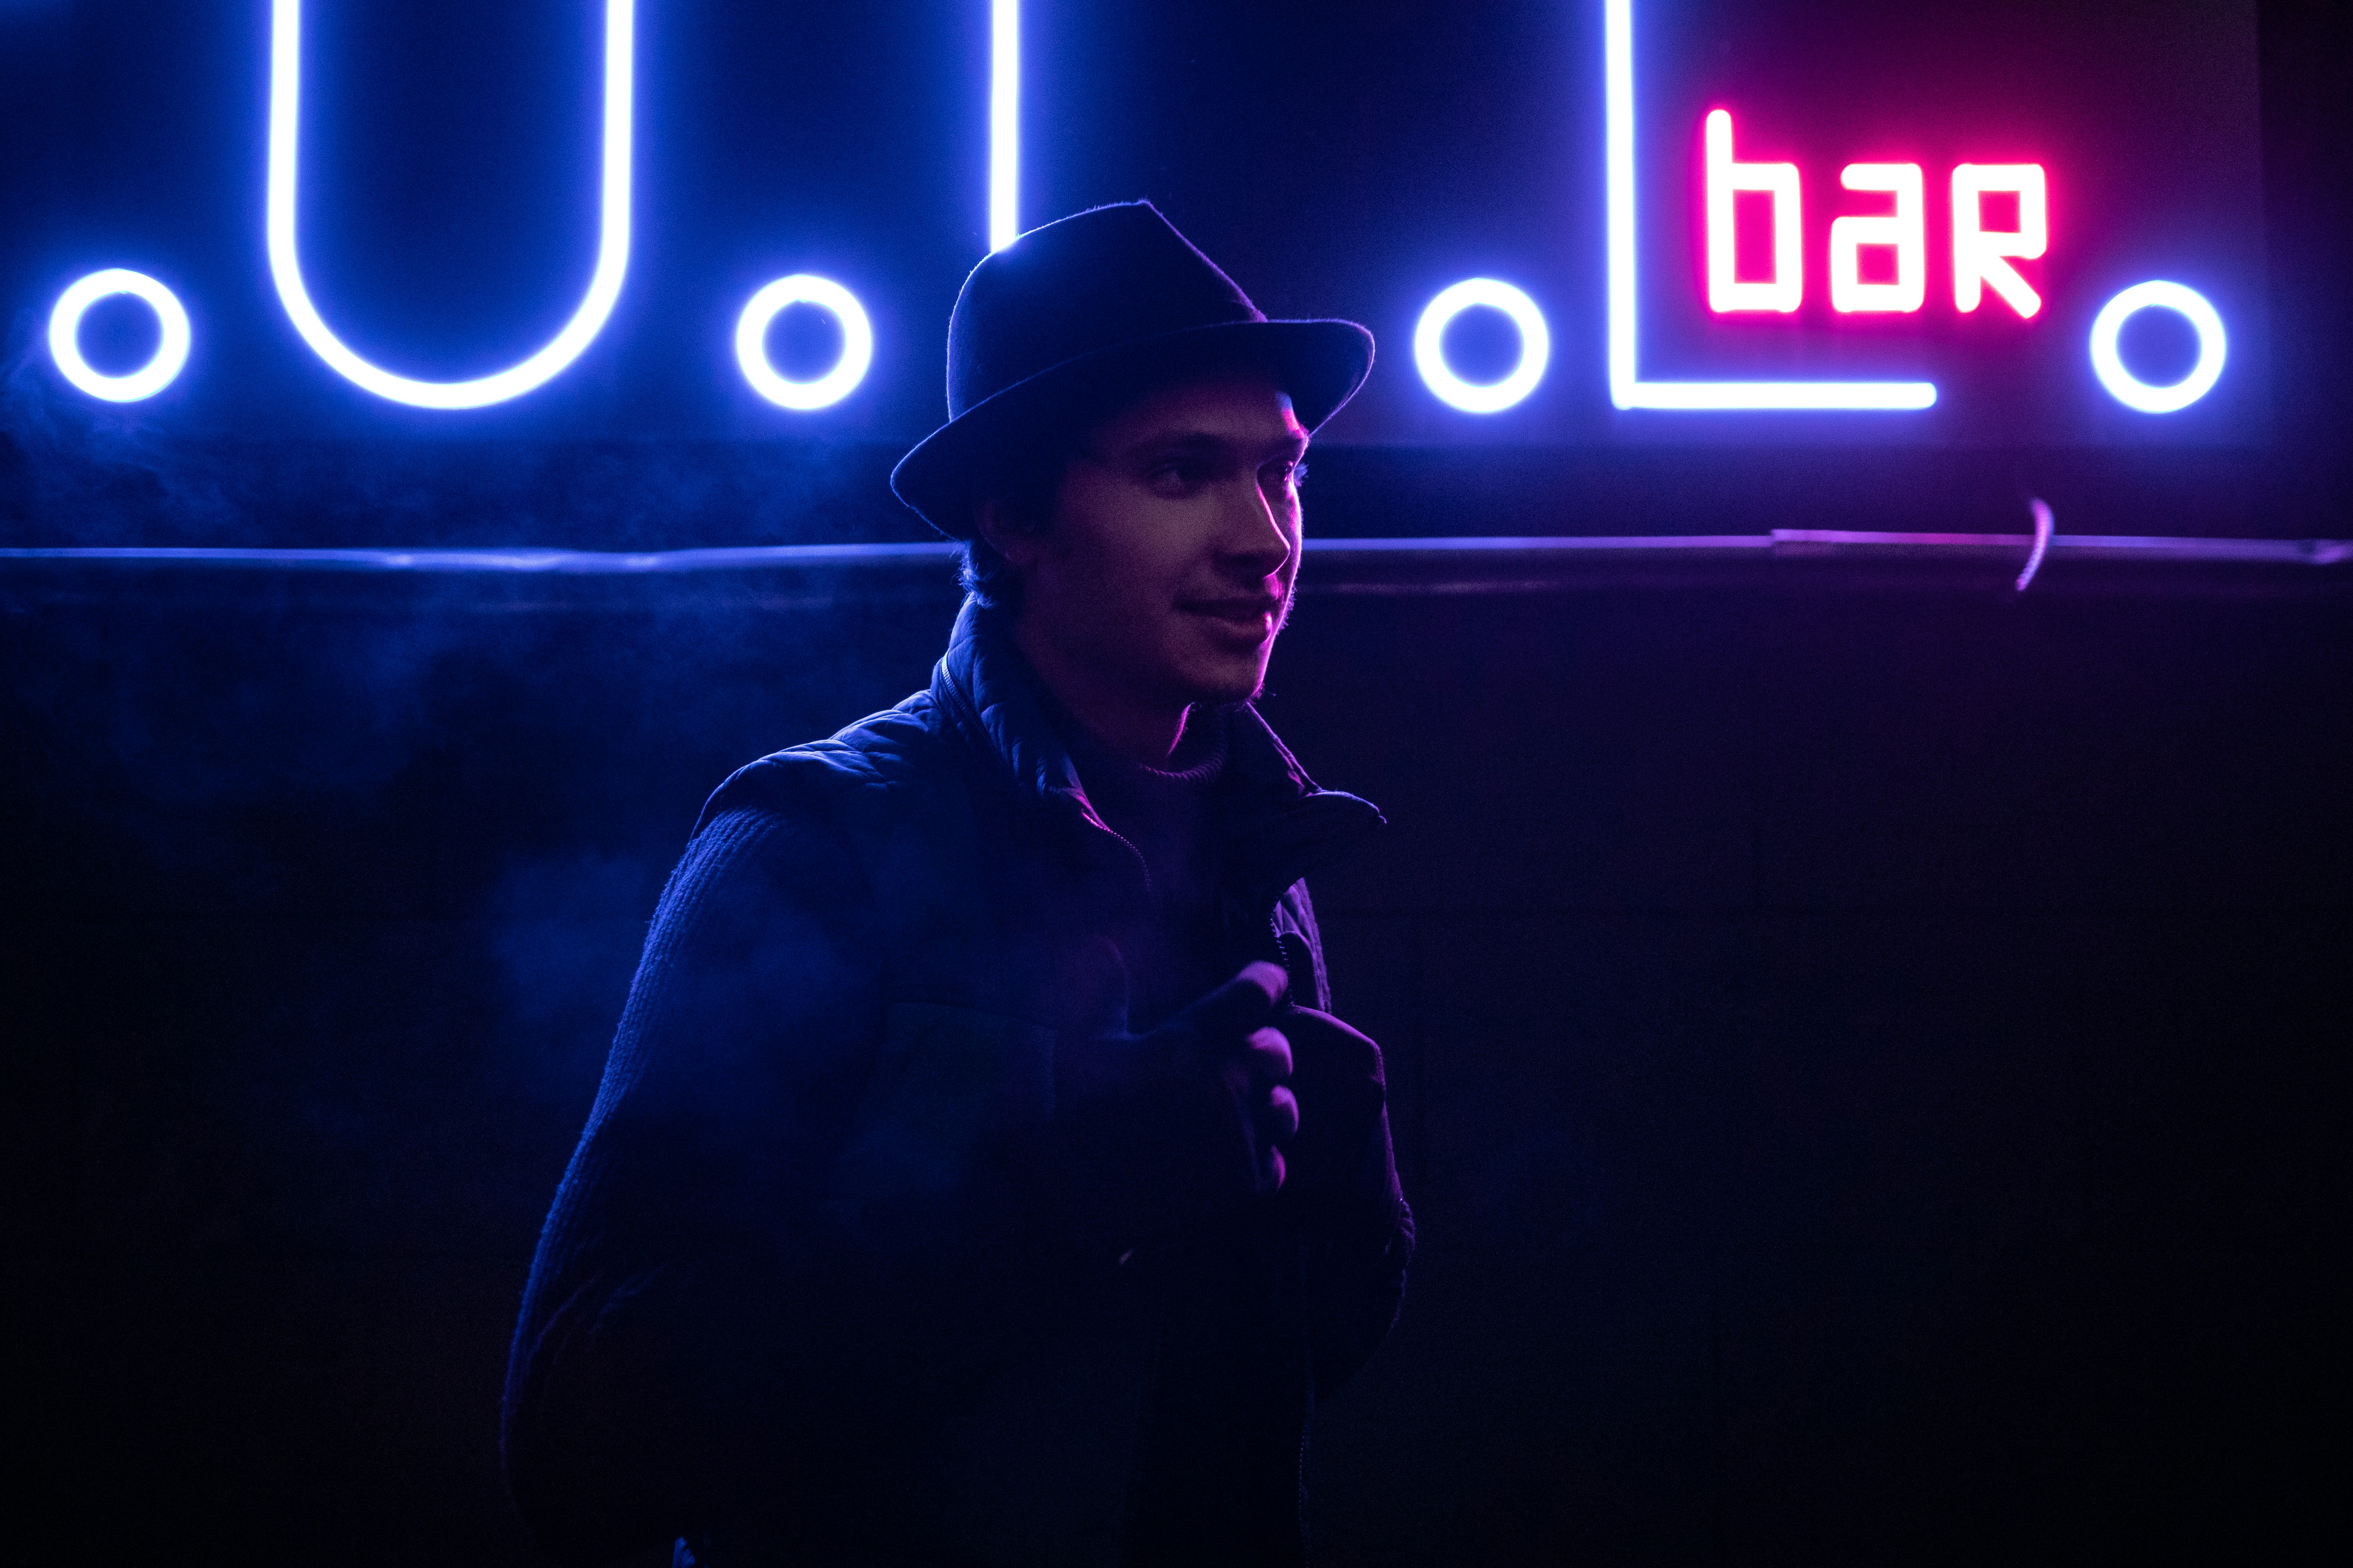
[[[1292,400],[1247,371],[1099,423],[1045,534],[1007,541],[1028,637],[1134,703],[1257,696],[1299,576],[1306,447]]]

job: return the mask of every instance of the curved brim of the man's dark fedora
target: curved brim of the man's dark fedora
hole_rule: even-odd
[[[1007,454],[1066,437],[1144,386],[1231,364],[1275,376],[1299,423],[1315,430],[1372,371],[1372,334],[1355,322],[1214,322],[1115,343],[1052,364],[984,397],[899,458],[892,494],[948,538],[972,536],[972,508]]]

